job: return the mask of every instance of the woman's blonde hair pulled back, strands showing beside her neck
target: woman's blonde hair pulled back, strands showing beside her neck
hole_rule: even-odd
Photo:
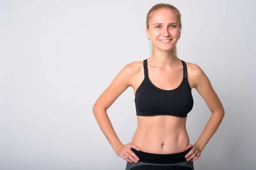
[[[175,14],[176,14],[176,17],[178,19],[178,21],[180,22],[180,28],[181,28],[181,15],[180,15],[180,11],[174,7],[173,5],[170,5],[170,4],[156,4],[154,5],[149,11],[148,11],[148,15],[147,15],[147,18],[146,18],[146,26],[147,28],[149,28],[148,26],[148,22],[150,20],[150,18],[152,17],[152,13],[153,11],[157,11],[159,9],[171,9]],[[177,48],[176,48],[176,45],[173,47],[173,51],[174,51],[174,55],[177,57]],[[151,55],[154,54],[154,45],[151,44]]]

